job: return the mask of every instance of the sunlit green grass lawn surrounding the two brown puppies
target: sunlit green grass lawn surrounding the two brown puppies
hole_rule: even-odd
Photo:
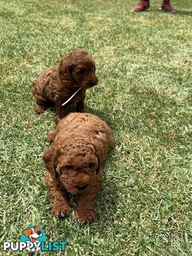
[[[38,225],[70,256],[192,255],[191,0],[172,1],[175,14],[159,11],[161,0],[131,13],[137,3],[0,1],[1,244]],[[62,222],[49,213],[42,155],[55,113],[36,115],[31,95],[38,74],[77,48],[100,79],[86,105],[115,137],[86,226],[74,212]]]

